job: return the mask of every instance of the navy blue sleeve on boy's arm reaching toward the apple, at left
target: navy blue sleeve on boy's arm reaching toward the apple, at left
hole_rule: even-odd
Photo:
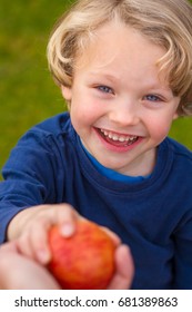
[[[0,243],[6,241],[9,222],[20,211],[55,202],[57,149],[53,138],[29,131],[12,150],[0,183]]]

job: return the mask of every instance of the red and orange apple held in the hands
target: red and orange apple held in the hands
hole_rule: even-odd
[[[61,236],[59,226],[49,231],[52,259],[48,265],[62,289],[107,289],[115,271],[115,245],[95,223],[78,221],[75,233]]]

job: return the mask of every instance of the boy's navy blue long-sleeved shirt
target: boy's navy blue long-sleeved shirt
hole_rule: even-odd
[[[0,183],[0,241],[11,218],[40,204],[70,203],[132,251],[132,289],[192,290],[192,153],[165,138],[150,177],[113,181],[90,160],[69,114],[30,129]]]

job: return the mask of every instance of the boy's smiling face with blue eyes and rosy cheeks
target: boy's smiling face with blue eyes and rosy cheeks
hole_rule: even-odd
[[[165,51],[124,25],[105,25],[97,36],[78,59],[72,88],[62,87],[73,127],[103,166],[150,174],[180,103],[158,76]]]

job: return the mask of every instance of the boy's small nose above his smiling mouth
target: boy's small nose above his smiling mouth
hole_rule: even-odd
[[[139,105],[135,100],[115,103],[110,110],[109,118],[120,126],[135,126],[140,121]]]

